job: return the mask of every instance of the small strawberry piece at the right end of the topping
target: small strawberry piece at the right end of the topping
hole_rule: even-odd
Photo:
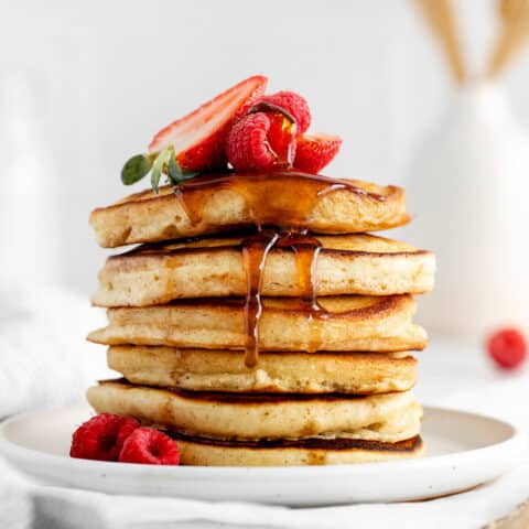
[[[294,168],[307,173],[319,173],[339,151],[342,138],[321,132],[299,136]]]

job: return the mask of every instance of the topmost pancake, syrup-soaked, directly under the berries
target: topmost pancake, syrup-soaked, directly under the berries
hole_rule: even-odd
[[[346,234],[406,224],[404,191],[298,172],[204,175],[177,187],[144,191],[95,209],[102,247],[194,237],[234,226],[285,226]]]

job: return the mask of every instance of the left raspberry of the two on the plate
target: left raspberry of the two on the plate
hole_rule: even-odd
[[[83,423],[72,438],[69,455],[82,460],[118,461],[125,440],[139,423],[129,417],[101,413]]]

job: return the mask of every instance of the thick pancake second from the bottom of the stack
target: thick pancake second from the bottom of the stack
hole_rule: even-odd
[[[396,443],[419,434],[422,408],[410,391],[352,397],[184,391],[123,379],[88,389],[98,413],[220,440],[357,439]]]

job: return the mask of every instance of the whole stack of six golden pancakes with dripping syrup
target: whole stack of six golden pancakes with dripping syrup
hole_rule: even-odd
[[[431,290],[435,261],[366,234],[407,220],[399,187],[291,171],[96,209],[101,246],[141,246],[99,274],[109,323],[89,339],[123,378],[90,388],[90,404],[163,430],[190,465],[419,455],[412,294]]]

